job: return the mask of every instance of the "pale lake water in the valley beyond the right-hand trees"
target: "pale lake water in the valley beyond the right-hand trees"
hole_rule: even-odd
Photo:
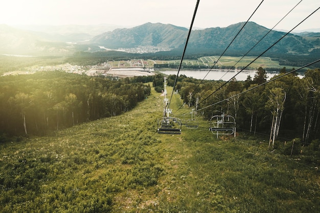
[[[253,79],[257,72],[257,70],[243,70],[242,72],[240,71],[241,70],[228,71],[227,69],[212,69],[210,72],[209,70],[205,70],[205,69],[180,70],[179,75],[185,75],[187,77],[192,77],[192,78],[201,79],[201,80],[205,77],[204,80],[223,80],[223,81],[228,81],[232,79],[235,75],[237,75],[235,78],[238,81],[245,81],[248,76],[251,76],[251,78]],[[177,72],[178,71],[167,70],[167,71],[162,71],[161,73],[166,75],[177,75]],[[278,74],[279,73],[277,72],[267,72],[267,80],[269,80],[270,78]]]

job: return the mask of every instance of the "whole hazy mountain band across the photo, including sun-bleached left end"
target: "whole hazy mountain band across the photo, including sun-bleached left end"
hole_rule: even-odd
[[[221,51],[240,31],[244,22],[226,28],[193,30],[189,51]],[[231,52],[245,53],[254,46],[269,29],[248,22],[233,44]],[[15,55],[71,55],[78,51],[104,51],[106,49],[152,46],[158,49],[180,49],[186,42],[188,29],[170,24],[145,23],[123,28],[121,26],[23,26],[0,25],[0,54]],[[284,36],[285,32],[271,31],[254,49],[261,53]],[[270,53],[303,54],[320,48],[320,33],[301,32],[289,34],[275,45]],[[312,52],[311,52],[312,53]]]

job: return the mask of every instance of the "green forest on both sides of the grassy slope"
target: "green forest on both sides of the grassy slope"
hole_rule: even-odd
[[[285,67],[279,74],[284,75]],[[254,77],[204,81],[180,76],[176,88],[181,99],[210,120],[217,111],[236,117],[237,129],[278,138],[300,138],[311,143],[319,138],[319,69],[311,69],[300,79],[294,74],[256,89],[238,93],[266,82],[263,68]],[[173,86],[175,76],[169,76]],[[83,122],[126,112],[150,94],[163,90],[163,76],[110,80],[64,72],[0,78],[0,127],[5,135],[42,135]],[[220,88],[223,85],[222,88]],[[196,89],[196,90],[195,90]],[[232,98],[230,98],[232,97]],[[223,101],[225,100],[225,101]],[[227,101],[226,101],[227,100]],[[203,109],[202,109],[203,108]]]

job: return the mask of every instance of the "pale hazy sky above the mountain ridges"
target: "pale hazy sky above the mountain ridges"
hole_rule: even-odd
[[[250,19],[272,28],[301,0],[264,0]],[[99,25],[133,27],[146,22],[190,27],[196,0],[7,0],[0,4],[0,24]],[[194,27],[227,27],[246,21],[262,0],[200,0]],[[302,2],[276,27],[291,30],[314,10],[319,0]],[[320,10],[298,30],[320,29]]]

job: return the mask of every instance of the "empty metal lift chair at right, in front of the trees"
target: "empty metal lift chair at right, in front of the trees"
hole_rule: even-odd
[[[231,115],[214,115],[210,119],[209,130],[217,135],[232,135],[236,131],[236,121]],[[236,134],[235,134],[236,136]]]

